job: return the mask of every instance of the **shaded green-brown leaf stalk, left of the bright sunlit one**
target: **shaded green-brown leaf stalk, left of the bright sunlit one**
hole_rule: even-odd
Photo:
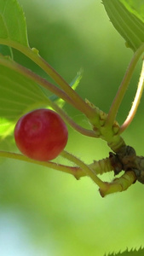
[[[109,126],[113,125],[113,122],[116,119],[116,115],[118,113],[118,108],[120,107],[120,104],[124,98],[125,92],[128,88],[128,85],[130,84],[130,79],[132,77],[132,74],[134,73],[137,61],[140,59],[143,51],[144,51],[144,44],[141,44],[140,48],[135,51],[135,54],[133,55],[130,61],[130,65],[124,75],[124,79],[120,84],[118,92],[112,102],[112,106],[107,115],[106,125],[109,125]]]

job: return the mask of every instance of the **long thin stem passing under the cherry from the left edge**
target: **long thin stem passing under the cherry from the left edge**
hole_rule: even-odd
[[[0,156],[4,157],[4,158],[21,160],[21,161],[25,161],[25,162],[32,163],[32,164],[37,164],[39,166],[49,167],[49,168],[55,169],[60,172],[66,172],[68,174],[72,174],[77,179],[79,179],[80,177],[86,176],[85,172],[82,171],[82,169],[77,166],[76,167],[63,166],[63,165],[59,165],[59,164],[57,164],[55,162],[51,162],[51,161],[42,162],[42,161],[32,160],[23,154],[16,154],[16,153],[6,152],[6,151],[0,151]]]

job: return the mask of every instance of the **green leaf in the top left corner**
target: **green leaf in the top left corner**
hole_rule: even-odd
[[[0,0],[0,44],[28,47],[26,18],[16,0]]]

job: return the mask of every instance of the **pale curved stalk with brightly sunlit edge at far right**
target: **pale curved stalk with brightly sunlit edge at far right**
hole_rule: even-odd
[[[138,106],[140,104],[140,101],[141,101],[141,96],[142,96],[143,89],[144,89],[144,61],[142,63],[141,76],[140,76],[138,87],[137,87],[137,90],[136,90],[134,102],[132,104],[132,107],[130,109],[130,113],[129,113],[128,117],[125,119],[124,124],[121,125],[118,133],[122,133],[130,125],[130,123],[134,119],[135,113],[136,113],[137,108],[138,108]]]

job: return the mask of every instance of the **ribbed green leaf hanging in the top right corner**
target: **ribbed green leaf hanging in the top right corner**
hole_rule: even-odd
[[[135,15],[126,1],[122,0],[103,0],[107,15],[112,21],[112,25],[125,39],[127,47],[134,51],[144,42],[144,22],[140,15]]]

